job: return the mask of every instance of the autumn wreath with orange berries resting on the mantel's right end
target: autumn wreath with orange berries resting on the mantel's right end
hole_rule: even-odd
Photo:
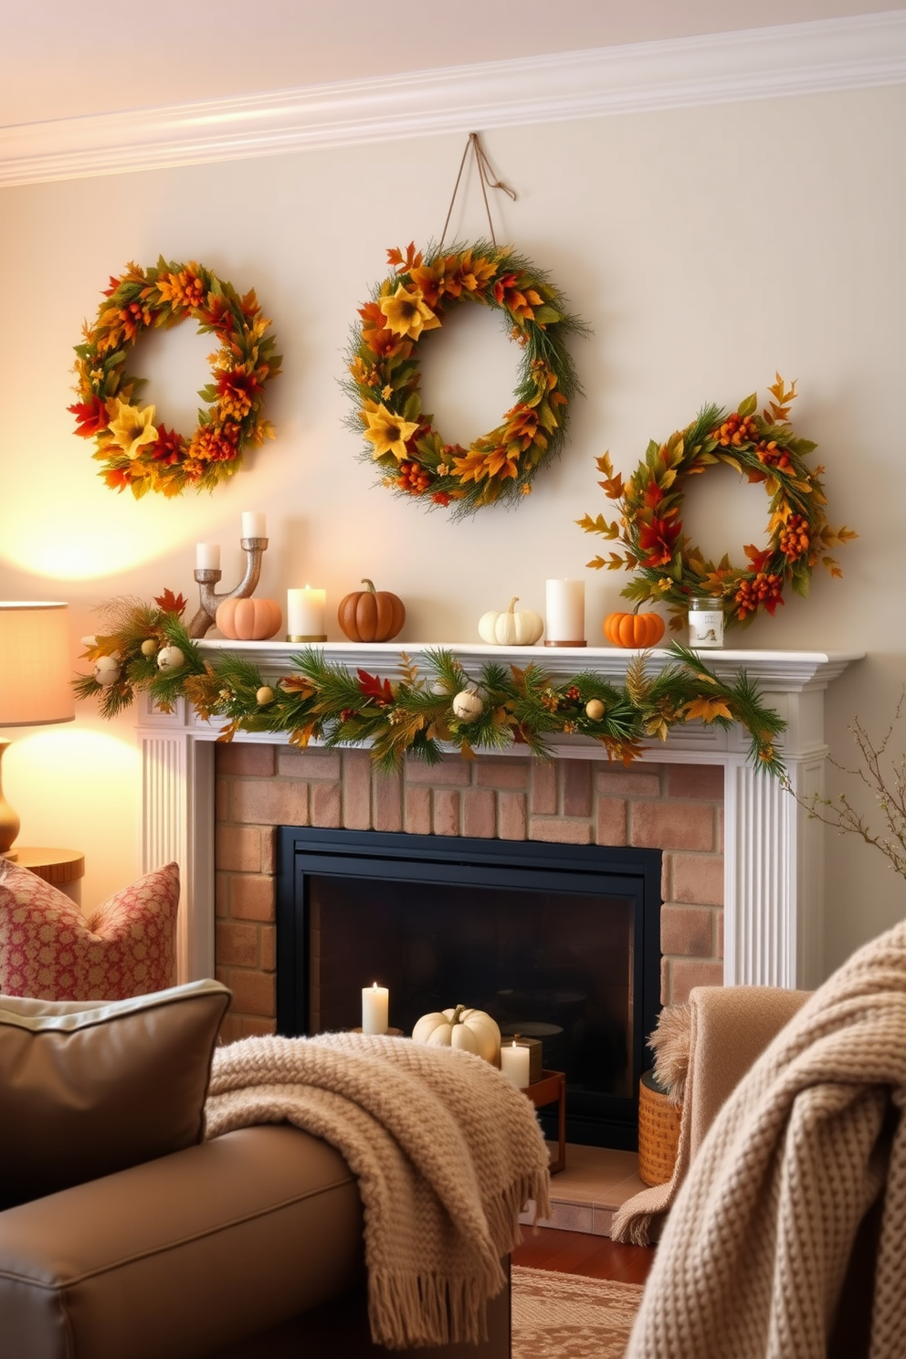
[[[720,598],[728,628],[748,626],[761,610],[773,617],[786,586],[808,595],[819,561],[831,576],[842,575],[829,549],[857,534],[827,523],[819,480],[825,469],[808,467],[804,461],[816,444],[796,438],[789,423],[796,383],[788,389],[777,374],[769,393],[762,414],[757,413],[755,394],[729,413],[704,406],[666,443],[652,440],[625,485],[619,473],[614,476],[610,455],[598,458],[598,470],[604,474],[599,485],[609,499],[619,501],[621,520],[607,523],[603,515],[585,515],[576,522],[587,533],[619,540],[625,550],[595,557],[588,565],[634,571],[636,579],[622,594],[638,603],[666,603],[674,631],[686,625],[693,595]],[[727,554],[717,564],[706,560],[683,534],[681,510],[689,477],[721,462],[750,482],[761,482],[770,497],[767,546],[743,548],[747,567],[733,565]]]

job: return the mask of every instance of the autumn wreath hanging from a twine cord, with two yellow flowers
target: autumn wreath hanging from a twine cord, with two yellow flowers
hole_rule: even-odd
[[[579,390],[566,349],[585,328],[566,311],[561,294],[508,246],[479,241],[427,257],[410,243],[388,250],[394,266],[360,308],[349,347],[356,410],[382,484],[401,495],[470,514],[531,491],[538,466],[560,453],[569,401]],[[515,404],[501,423],[469,448],[446,443],[421,409],[420,347],[444,322],[450,306],[477,302],[499,311],[522,348]]]

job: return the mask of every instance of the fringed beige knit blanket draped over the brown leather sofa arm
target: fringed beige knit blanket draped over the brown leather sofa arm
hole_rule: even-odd
[[[549,1215],[535,1110],[489,1063],[402,1038],[244,1038],[215,1053],[206,1136],[292,1123],[359,1180],[368,1311],[390,1348],[477,1343],[519,1214]]]

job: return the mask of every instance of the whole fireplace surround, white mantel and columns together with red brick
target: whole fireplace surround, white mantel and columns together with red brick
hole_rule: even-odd
[[[239,651],[277,680],[297,650],[284,643],[202,641]],[[329,660],[393,678],[394,644],[331,643]],[[407,646],[418,660],[427,648]],[[471,674],[493,658],[535,662],[556,680],[592,670],[619,682],[633,652],[613,648],[451,648]],[[710,652],[742,666],[786,722],[782,754],[791,786],[820,792],[827,747],[823,692],[852,652]],[[671,663],[651,652],[649,665]],[[541,762],[513,750],[447,757],[429,768],[409,760],[401,777],[372,771],[364,750],[296,750],[285,737],[242,734],[216,745],[217,730],[187,705],[171,713],[147,699],[139,718],[143,756],[143,866],[181,868],[179,976],[215,969],[234,991],[225,1036],[274,1027],[274,841],[277,825],[374,829],[441,836],[547,840],[656,848],[664,852],[662,989],[746,983],[814,987],[823,976],[822,824],[777,780],[753,771],[744,733],[690,723],[656,742],[629,769],[596,742],[568,741]],[[649,762],[651,761],[651,762]]]

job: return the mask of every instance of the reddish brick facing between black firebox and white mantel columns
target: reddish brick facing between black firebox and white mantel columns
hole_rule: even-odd
[[[664,851],[662,1000],[723,981],[724,772],[591,760],[452,756],[401,777],[361,750],[219,746],[216,974],[234,993],[224,1037],[273,1033],[274,826],[634,845]]]

